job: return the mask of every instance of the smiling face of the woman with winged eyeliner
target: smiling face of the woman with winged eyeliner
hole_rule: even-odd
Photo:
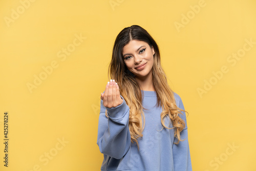
[[[122,51],[127,69],[136,77],[145,77],[152,74],[154,54],[154,48],[151,48],[147,42],[140,40],[131,40],[129,44],[123,47]]]

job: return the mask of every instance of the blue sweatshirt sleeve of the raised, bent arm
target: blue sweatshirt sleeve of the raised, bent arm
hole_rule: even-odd
[[[105,110],[109,117],[105,116]],[[115,108],[105,108],[101,100],[97,137],[101,153],[116,159],[121,159],[127,153],[131,145],[129,114],[130,108],[124,99]]]

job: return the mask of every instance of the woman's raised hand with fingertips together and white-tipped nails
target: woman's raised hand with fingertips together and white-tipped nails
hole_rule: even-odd
[[[103,105],[106,108],[115,108],[122,104],[123,99],[120,96],[119,86],[114,79],[111,79],[110,82],[106,84],[105,92],[101,93],[100,98],[103,100]]]

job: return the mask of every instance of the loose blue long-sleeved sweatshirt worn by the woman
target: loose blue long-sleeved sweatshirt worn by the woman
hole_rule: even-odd
[[[129,106],[123,99],[122,104],[115,108],[105,108],[103,101],[100,104],[97,144],[104,159],[101,170],[137,170],[137,171],[190,171],[192,170],[186,115],[180,115],[186,125],[180,133],[179,144],[174,137],[174,129],[162,129],[160,114],[161,107],[157,107],[157,95],[155,91],[143,91],[142,105],[148,110],[143,110],[145,127],[143,137],[137,144],[131,143],[129,131]],[[184,110],[180,96],[176,93],[176,104]],[[105,116],[108,111],[109,118]],[[165,125],[173,127],[170,119],[165,119]]]

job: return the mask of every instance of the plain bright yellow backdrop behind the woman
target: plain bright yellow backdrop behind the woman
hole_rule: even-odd
[[[254,0],[37,0],[27,8],[22,2],[28,1],[0,1],[0,170],[100,169],[100,93],[109,80],[114,40],[131,25],[157,41],[169,85],[189,113],[193,170],[256,170],[256,44],[228,62],[232,53],[243,52],[245,40],[256,42]],[[201,5],[197,13],[195,5]],[[86,38],[74,46],[79,35]],[[68,47],[72,52],[64,58],[61,51]],[[54,61],[52,73],[44,75],[42,67]],[[216,80],[213,72],[222,66],[228,72]],[[29,91],[27,84],[40,74],[45,79]],[[210,80],[214,85],[200,96],[198,89]],[[9,113],[8,168],[4,112]]]

